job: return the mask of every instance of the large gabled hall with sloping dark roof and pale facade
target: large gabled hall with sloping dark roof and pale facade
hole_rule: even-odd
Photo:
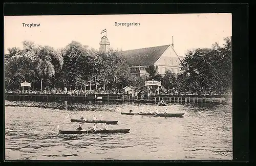
[[[136,76],[146,74],[146,68],[150,65],[158,66],[159,74],[164,74],[167,69],[178,74],[181,72],[181,61],[184,59],[177,55],[174,44],[128,50],[123,51],[122,54]]]

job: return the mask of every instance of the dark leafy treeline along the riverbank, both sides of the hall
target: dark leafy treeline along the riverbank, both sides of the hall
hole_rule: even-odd
[[[30,82],[32,89],[67,87],[83,89],[91,82],[102,89],[124,86],[143,87],[146,80],[157,80],[169,91],[179,93],[217,93],[231,91],[232,62],[230,38],[223,46],[215,43],[210,49],[188,51],[182,62],[182,73],[166,70],[159,75],[157,66],[148,66],[148,75],[131,74],[125,57],[118,50],[101,52],[72,41],[65,48],[36,45],[24,41],[23,49],[10,48],[5,54],[5,88],[20,89],[21,82]],[[41,86],[42,85],[42,86]]]

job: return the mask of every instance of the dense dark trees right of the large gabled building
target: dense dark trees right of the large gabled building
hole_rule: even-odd
[[[224,93],[231,89],[231,42],[229,38],[221,47],[217,43],[211,49],[189,51],[183,60],[183,80],[187,90],[201,93]],[[184,83],[184,82],[183,82]]]

